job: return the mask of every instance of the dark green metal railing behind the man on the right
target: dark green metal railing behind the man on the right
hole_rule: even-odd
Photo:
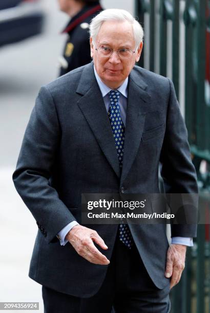
[[[143,51],[138,65],[163,76],[171,69],[177,98],[183,99],[200,187],[199,206],[205,208],[209,220],[210,0],[136,0],[135,9],[146,33],[144,46],[150,47],[146,54]],[[180,79],[184,88],[180,88]],[[185,270],[172,289],[171,300],[173,313],[210,313],[209,225],[198,225],[197,239],[187,249]]]

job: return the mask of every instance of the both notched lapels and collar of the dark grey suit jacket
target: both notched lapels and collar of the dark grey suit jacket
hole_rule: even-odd
[[[119,160],[111,124],[107,110],[96,81],[93,69],[93,62],[84,66],[77,93],[82,95],[78,106],[85,116],[93,134],[103,151],[104,155],[121,184],[127,177],[139,149],[146,111],[150,108],[150,95],[146,92],[147,84],[139,73],[132,70],[129,75],[128,85],[128,106],[124,140],[124,154],[122,172],[119,167]]]

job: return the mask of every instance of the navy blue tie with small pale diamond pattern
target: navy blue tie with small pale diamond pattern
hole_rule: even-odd
[[[121,120],[119,109],[120,93],[118,92],[118,90],[111,90],[111,92],[109,92],[109,97],[110,97],[110,108],[108,111],[108,116],[110,119],[112,132],[115,139],[115,145],[117,148],[119,166],[120,168],[122,168],[124,152],[124,125]],[[129,249],[131,249],[131,246],[133,244],[133,238],[128,225],[120,224],[119,240],[121,240]]]

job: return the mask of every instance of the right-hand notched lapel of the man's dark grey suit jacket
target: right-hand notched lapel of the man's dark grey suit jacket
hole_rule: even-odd
[[[125,125],[123,166],[120,183],[127,177],[141,142],[146,111],[150,108],[147,85],[139,74],[132,71],[129,76],[128,106]]]

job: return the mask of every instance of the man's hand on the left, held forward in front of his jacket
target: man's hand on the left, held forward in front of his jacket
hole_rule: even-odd
[[[95,247],[96,242],[104,250],[108,247],[98,233],[90,228],[76,225],[66,235],[66,239],[73,245],[76,252],[94,264],[108,265],[110,261]]]

